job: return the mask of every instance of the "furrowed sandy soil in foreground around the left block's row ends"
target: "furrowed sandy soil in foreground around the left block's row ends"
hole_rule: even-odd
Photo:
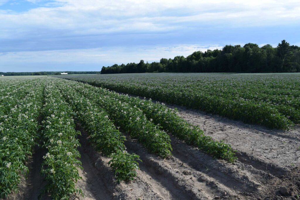
[[[127,150],[140,155],[143,162],[135,181],[116,184],[108,165],[110,159],[96,152],[87,134],[81,132],[79,151],[85,169],[77,185],[85,196],[77,199],[296,199],[300,192],[296,167],[258,169],[255,166],[265,163],[252,158],[227,163],[212,159],[172,135],[174,150],[170,159],[149,154],[125,135]],[[286,190],[286,196],[280,193],[280,187]]]

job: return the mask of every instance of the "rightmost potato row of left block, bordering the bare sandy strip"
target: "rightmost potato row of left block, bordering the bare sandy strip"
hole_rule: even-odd
[[[127,102],[132,107],[140,108],[150,121],[159,124],[165,131],[184,140],[187,144],[197,146],[213,157],[222,158],[229,162],[236,160],[235,152],[229,144],[222,141],[215,141],[210,136],[205,136],[203,130],[185,121],[178,115],[176,110],[169,109],[164,103],[153,103],[151,99],[141,100],[138,97],[120,95],[103,88],[98,88],[97,91],[110,98]]]

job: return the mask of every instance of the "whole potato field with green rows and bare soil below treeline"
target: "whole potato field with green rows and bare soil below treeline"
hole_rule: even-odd
[[[297,73],[2,77],[1,198],[300,199],[299,121]]]

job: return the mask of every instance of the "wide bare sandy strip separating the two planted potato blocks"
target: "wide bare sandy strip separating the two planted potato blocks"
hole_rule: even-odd
[[[270,130],[179,106],[176,108],[180,116],[191,124],[199,125],[206,135],[232,145],[240,152],[239,159],[246,159],[248,163],[251,160],[268,163],[262,170],[272,169],[276,165],[286,171],[300,165],[299,125],[289,131]]]

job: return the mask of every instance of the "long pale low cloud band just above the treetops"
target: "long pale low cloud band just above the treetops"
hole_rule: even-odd
[[[29,63],[51,62],[51,64],[61,63],[82,63],[82,64],[127,64],[128,62],[139,62],[140,60],[159,61],[161,58],[174,58],[177,55],[187,56],[195,51],[206,51],[207,49],[221,49],[220,45],[200,46],[182,44],[176,46],[136,46],[94,48],[94,49],[71,49],[71,50],[52,50],[52,51],[27,51],[27,52],[8,52],[0,54],[0,65],[5,66],[10,62],[18,62],[26,67]],[[11,64],[10,64],[11,65]],[[41,66],[42,66],[41,65]],[[14,67],[11,65],[10,67]]]

